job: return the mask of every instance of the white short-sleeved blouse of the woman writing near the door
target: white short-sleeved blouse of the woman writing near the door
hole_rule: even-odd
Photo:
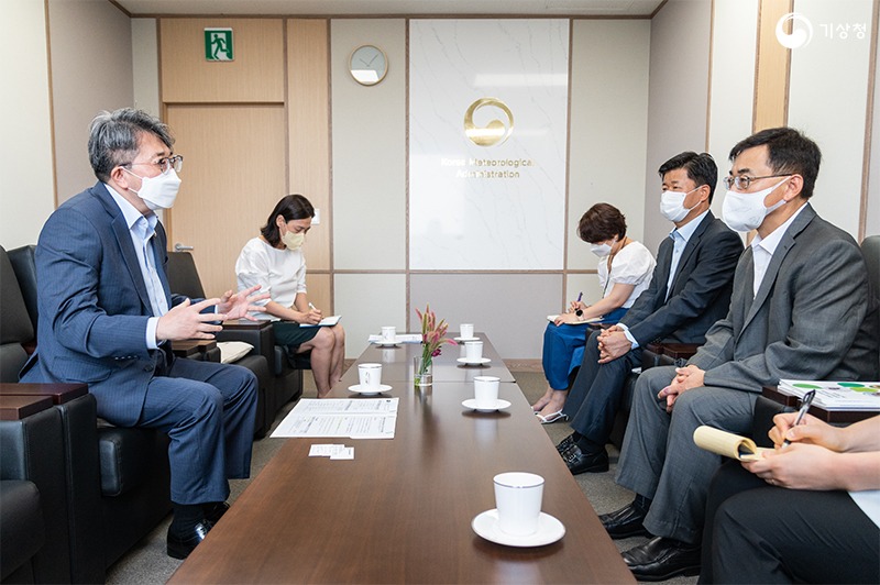
[[[235,277],[239,290],[260,285],[257,294],[268,292],[270,299],[254,305],[266,305],[274,300],[284,307],[293,307],[299,292],[306,292],[306,256],[302,250],[272,247],[260,238],[250,240],[235,261]],[[267,312],[251,312],[256,319],[277,321]]]

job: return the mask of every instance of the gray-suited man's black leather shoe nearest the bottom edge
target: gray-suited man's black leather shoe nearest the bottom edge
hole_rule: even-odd
[[[638,581],[666,581],[700,573],[700,544],[657,537],[624,553],[624,562]]]

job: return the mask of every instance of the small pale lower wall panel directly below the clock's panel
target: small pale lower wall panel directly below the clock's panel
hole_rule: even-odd
[[[337,274],[336,312],[345,328],[345,357],[358,357],[371,334],[382,327],[407,327],[406,276],[403,274]]]

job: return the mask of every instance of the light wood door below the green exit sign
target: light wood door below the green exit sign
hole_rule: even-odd
[[[283,106],[168,106],[185,157],[168,246],[195,247],[205,291],[235,288],[235,260],[285,195]]]

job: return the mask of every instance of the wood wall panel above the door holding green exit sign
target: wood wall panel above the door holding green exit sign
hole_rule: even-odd
[[[234,60],[205,60],[204,30],[231,27]],[[162,100],[284,102],[280,19],[161,19]]]

